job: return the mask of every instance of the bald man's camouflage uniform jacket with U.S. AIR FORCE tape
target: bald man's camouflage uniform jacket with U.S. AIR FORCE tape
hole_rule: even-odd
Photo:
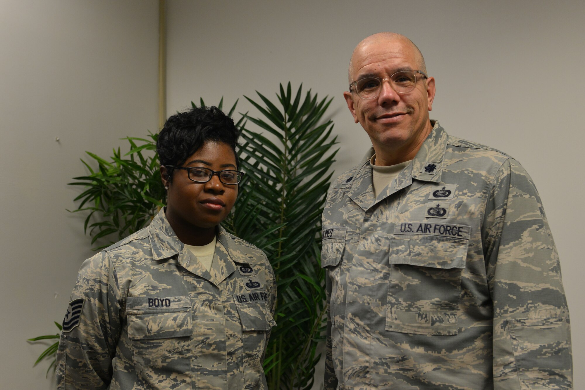
[[[569,389],[569,312],[536,188],[438,122],[374,198],[370,149],[329,190],[326,389]]]

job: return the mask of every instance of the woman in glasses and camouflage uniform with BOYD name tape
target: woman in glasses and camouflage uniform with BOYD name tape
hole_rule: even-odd
[[[59,389],[267,389],[273,270],[219,225],[243,176],[237,139],[216,107],[167,120],[157,141],[167,207],[81,266]]]

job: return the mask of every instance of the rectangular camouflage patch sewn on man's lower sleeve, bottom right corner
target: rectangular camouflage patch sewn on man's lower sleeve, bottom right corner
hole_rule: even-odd
[[[569,322],[565,318],[509,319],[518,377],[529,389],[572,388]],[[548,387],[547,387],[548,388]]]

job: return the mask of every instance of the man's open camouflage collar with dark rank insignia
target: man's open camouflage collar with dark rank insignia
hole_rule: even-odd
[[[374,197],[372,185],[372,173],[370,166],[374,148],[370,148],[360,162],[357,172],[350,180],[347,180],[345,191],[353,201],[364,211],[395,193],[398,190],[412,184],[413,179],[425,182],[441,182],[443,171],[443,157],[448,140],[447,132],[439,125],[439,121],[433,121],[431,133],[421,145],[412,162],[398,173],[396,179],[381,191],[378,197]]]

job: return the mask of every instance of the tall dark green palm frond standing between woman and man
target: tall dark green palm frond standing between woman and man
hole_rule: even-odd
[[[310,90],[303,99],[302,85],[292,95],[290,83],[286,89],[280,85],[280,107],[261,93],[257,95],[260,102],[246,99],[263,118],[243,114],[258,130],[249,125],[241,130],[245,142],[240,161],[249,175],[240,189],[246,194],[240,193],[229,228],[263,249],[276,274],[278,325],[264,363],[269,387],[308,389],[320,357],[316,347],[325,329],[320,217],[336,140],[331,138],[332,121],[322,123],[322,118],[331,99],[318,100]],[[265,231],[271,232],[254,241],[254,235]]]

